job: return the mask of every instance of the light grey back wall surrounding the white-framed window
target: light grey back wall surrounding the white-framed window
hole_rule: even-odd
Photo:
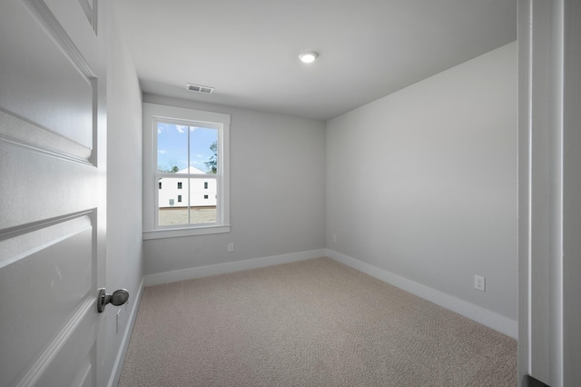
[[[324,123],[152,94],[143,102],[231,114],[231,232],[143,241],[146,274],[325,247]]]

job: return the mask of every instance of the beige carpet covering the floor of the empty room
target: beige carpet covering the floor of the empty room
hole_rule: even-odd
[[[147,287],[120,386],[516,386],[517,342],[329,258]]]

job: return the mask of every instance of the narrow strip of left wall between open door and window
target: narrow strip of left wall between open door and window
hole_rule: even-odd
[[[114,15],[111,15],[114,18]],[[107,291],[125,288],[127,306],[105,309],[106,374],[121,372],[124,336],[143,281],[142,101],[133,60],[119,29],[111,23],[107,78]],[[122,323],[116,332],[116,313]],[[124,340],[124,342],[123,342]],[[115,381],[110,381],[116,385]]]

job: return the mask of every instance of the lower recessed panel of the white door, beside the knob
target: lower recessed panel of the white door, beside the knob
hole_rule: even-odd
[[[10,250],[17,257],[0,271],[0,293],[8,295],[0,301],[0,348],[11,349],[10,356],[0,363],[0,374],[8,380],[15,378],[19,364],[49,347],[55,332],[63,331],[75,314],[94,312],[86,310],[95,287],[90,259],[92,227],[87,218],[57,223],[0,243],[3,250],[5,244],[13,244]],[[25,239],[25,251],[19,251],[19,242]],[[34,245],[34,240],[41,244]]]

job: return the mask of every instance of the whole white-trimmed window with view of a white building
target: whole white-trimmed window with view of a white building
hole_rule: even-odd
[[[143,238],[230,232],[230,115],[145,103],[143,130]]]

